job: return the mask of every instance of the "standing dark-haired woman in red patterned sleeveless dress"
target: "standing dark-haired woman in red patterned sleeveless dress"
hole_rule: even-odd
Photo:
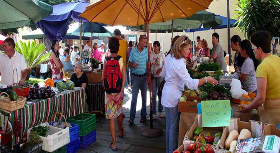
[[[59,42],[58,40],[54,40],[52,43],[52,51],[50,55],[50,63],[52,68],[52,79],[53,80],[62,80],[63,73],[62,68],[63,64],[59,58]]]

